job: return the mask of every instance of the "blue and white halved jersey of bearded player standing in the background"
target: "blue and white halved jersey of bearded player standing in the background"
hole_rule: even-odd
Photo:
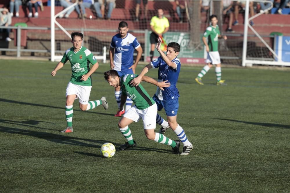
[[[140,47],[137,38],[128,33],[125,38],[121,38],[120,34],[116,34],[112,38],[111,47],[115,48],[114,54],[114,70],[127,70],[133,65],[134,49]]]

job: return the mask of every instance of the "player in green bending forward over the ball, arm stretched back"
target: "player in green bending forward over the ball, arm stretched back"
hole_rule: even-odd
[[[122,94],[120,109],[123,108],[127,96],[130,97],[135,104],[128,111],[126,111],[126,113],[118,122],[119,130],[127,139],[127,142],[124,145],[120,146],[119,150],[126,150],[128,148],[133,148],[137,146],[136,142],[133,140],[131,130],[128,125],[133,123],[134,121],[138,122],[140,119],[142,119],[144,125],[144,132],[148,139],[154,140],[162,144],[170,145],[172,147],[172,152],[174,154],[179,154],[179,140],[173,141],[161,133],[155,133],[154,129],[156,128],[157,105],[155,101],[148,95],[148,93],[141,84],[139,84],[138,86],[132,86],[130,84],[131,80],[133,80],[137,76],[138,75],[135,74],[126,74],[120,77],[115,70],[109,70],[104,72],[104,77],[108,81],[110,86],[115,88],[119,86],[121,87]],[[160,89],[170,86],[169,82],[157,82],[156,80],[148,76],[143,76],[142,81],[154,84]]]

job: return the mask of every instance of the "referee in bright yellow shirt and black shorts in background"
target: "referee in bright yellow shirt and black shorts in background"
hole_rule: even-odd
[[[150,34],[150,60],[153,59],[155,43],[158,42],[158,37],[162,37],[162,34],[165,34],[169,30],[169,21],[166,17],[163,16],[164,12],[162,9],[157,10],[157,16],[153,16],[150,21],[150,28],[152,30]]]

